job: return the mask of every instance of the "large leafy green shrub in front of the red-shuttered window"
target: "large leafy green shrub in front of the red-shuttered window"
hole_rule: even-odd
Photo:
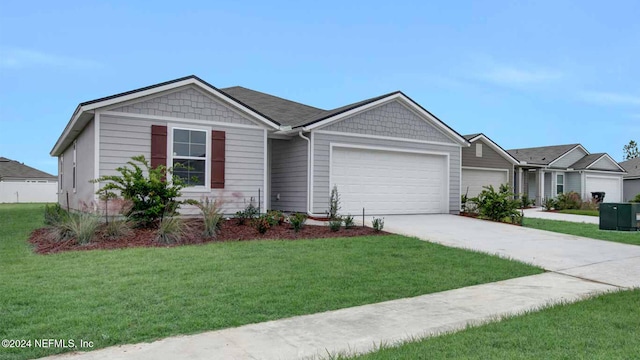
[[[158,219],[173,216],[177,213],[181,204],[186,201],[178,201],[180,191],[184,188],[184,182],[178,177],[173,177],[171,182],[167,177],[173,174],[172,168],[160,165],[152,168],[143,155],[134,156],[127,164],[116,169],[120,175],[102,176],[91,182],[107,182],[97,194],[103,197],[111,197],[119,192],[122,197],[132,202],[131,209],[125,214],[138,225],[149,227]]]

